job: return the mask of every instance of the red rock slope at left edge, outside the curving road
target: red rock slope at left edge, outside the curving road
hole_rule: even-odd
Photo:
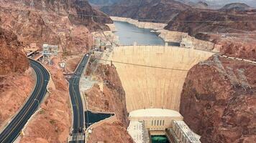
[[[0,28],[0,128],[19,110],[35,86],[35,75],[17,36]]]

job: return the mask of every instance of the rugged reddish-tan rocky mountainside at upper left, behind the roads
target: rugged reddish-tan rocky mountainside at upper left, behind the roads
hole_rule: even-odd
[[[24,46],[47,43],[64,52],[86,51],[92,44],[89,32],[109,29],[104,22],[111,22],[87,1],[45,1],[44,9],[42,1],[35,1],[35,8],[25,4],[1,1],[0,11],[1,27],[14,31]]]

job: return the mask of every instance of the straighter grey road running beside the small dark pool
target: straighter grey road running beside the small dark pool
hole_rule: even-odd
[[[70,134],[70,143],[75,142],[84,142],[84,112],[83,112],[83,102],[81,99],[81,94],[79,90],[79,81],[83,71],[86,69],[86,64],[88,63],[88,59],[90,59],[90,54],[85,54],[80,64],[73,74],[72,77],[68,80],[69,82],[69,94],[72,102],[73,109],[73,131]]]

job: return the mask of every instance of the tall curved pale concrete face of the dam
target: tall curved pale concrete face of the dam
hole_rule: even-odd
[[[126,92],[128,112],[145,108],[179,111],[188,70],[213,54],[178,46],[119,46],[109,60]]]

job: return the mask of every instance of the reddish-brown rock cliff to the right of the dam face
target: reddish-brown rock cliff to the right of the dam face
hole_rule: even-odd
[[[214,55],[188,72],[180,113],[201,142],[255,141],[255,71],[253,64]]]

